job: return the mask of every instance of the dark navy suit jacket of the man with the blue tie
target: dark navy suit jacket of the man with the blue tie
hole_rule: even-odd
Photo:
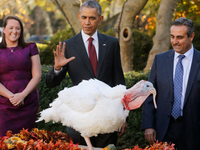
[[[153,106],[152,96],[143,104],[142,129],[154,128],[156,138],[162,141],[169,125],[173,106],[174,50],[155,56],[149,81],[157,90]],[[200,52],[194,50],[183,107],[182,142],[188,150],[200,148]]]

